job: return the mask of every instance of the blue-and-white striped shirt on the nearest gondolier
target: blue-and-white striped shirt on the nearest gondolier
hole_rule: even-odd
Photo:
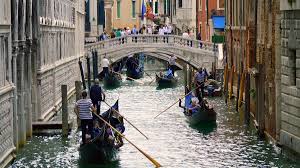
[[[79,108],[79,118],[81,120],[93,119],[90,108],[93,107],[91,99],[80,99],[75,104]]]

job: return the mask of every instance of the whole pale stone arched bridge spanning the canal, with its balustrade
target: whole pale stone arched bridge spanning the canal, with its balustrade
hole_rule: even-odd
[[[141,52],[163,60],[174,54],[180,62],[207,69],[211,69],[218,54],[213,43],[176,35],[130,35],[85,45],[86,53],[95,50],[101,57],[107,54],[112,62]]]

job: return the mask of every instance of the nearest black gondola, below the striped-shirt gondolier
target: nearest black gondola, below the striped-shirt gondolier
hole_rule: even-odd
[[[125,131],[123,118],[116,118],[113,114],[113,109],[118,110],[118,101],[113,105],[112,108],[101,114],[106,121],[109,121],[113,127],[120,132]],[[116,120],[118,122],[116,122]],[[123,146],[123,141],[117,134],[109,134],[113,132],[106,124],[100,120],[94,120],[94,123],[101,123],[102,127],[95,135],[95,138],[90,142],[80,145],[79,147],[79,159],[82,163],[106,163],[116,159],[117,151]],[[95,128],[93,130],[95,133]]]

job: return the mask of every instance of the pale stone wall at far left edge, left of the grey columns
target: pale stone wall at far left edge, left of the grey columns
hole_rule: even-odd
[[[0,167],[13,159],[14,145],[14,96],[11,54],[11,2],[0,2]]]

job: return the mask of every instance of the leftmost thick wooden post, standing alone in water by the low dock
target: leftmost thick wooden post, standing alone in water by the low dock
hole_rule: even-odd
[[[68,137],[68,86],[61,85],[61,99],[62,99],[62,135]]]

